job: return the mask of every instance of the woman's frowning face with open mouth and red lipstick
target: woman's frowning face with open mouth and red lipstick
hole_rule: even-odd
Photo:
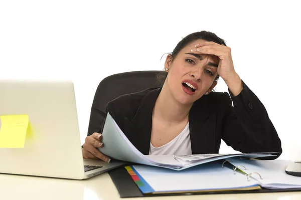
[[[165,84],[179,103],[192,104],[217,84],[214,80],[218,75],[219,58],[191,52],[203,41],[196,40],[187,45],[173,60],[170,55],[166,59],[165,68],[169,70]]]

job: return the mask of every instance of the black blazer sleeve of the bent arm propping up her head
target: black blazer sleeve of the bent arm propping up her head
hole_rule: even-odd
[[[281,141],[269,119],[264,105],[242,81],[243,89],[237,96],[229,90],[225,102],[226,114],[223,122],[222,139],[228,146],[240,152],[282,153]],[[232,101],[233,106],[232,106]]]

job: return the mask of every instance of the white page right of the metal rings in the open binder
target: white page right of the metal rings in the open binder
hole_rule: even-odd
[[[227,159],[228,160],[228,159]],[[292,164],[291,160],[246,160],[231,158],[229,162],[247,174],[251,174],[251,179],[256,179],[258,184],[265,188],[301,188],[301,177],[292,176],[285,173],[285,168]],[[245,168],[246,169],[245,169]]]

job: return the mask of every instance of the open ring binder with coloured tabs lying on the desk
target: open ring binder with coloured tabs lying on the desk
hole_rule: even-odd
[[[152,194],[192,194],[199,191],[202,193],[207,191],[208,193],[301,191],[301,184],[298,179],[283,174],[283,166],[292,161],[232,158],[230,162],[227,159],[227,163],[225,160],[212,162],[212,165],[199,165],[193,171],[183,170],[176,173],[140,164],[129,165],[125,169],[131,169],[127,170],[127,177],[131,177],[135,188],[138,188],[145,196]],[[221,168],[222,163],[224,168]],[[233,171],[238,172],[238,174],[233,174]],[[135,176],[132,176],[132,172]],[[155,174],[156,177],[154,178]],[[220,175],[223,178],[220,178]],[[202,177],[203,181],[194,181],[196,176]],[[185,177],[183,181],[173,181],[183,177]],[[117,179],[120,179],[120,174],[116,174],[115,180]],[[115,180],[113,180],[114,183]],[[116,186],[119,187],[120,185]],[[123,190],[128,191],[127,183]]]

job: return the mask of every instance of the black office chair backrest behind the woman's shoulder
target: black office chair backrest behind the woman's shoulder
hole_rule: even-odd
[[[88,136],[101,130],[107,103],[123,94],[142,91],[147,88],[161,87],[157,75],[162,71],[134,71],[114,74],[104,78],[95,92]]]

